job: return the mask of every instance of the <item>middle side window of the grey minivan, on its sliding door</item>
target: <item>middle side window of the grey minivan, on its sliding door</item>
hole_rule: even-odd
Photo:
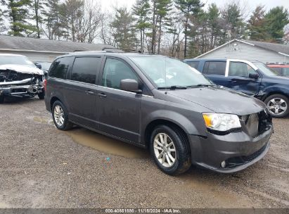
[[[99,57],[75,58],[75,63],[73,64],[71,73],[71,80],[95,84],[96,72],[100,63],[101,58]]]

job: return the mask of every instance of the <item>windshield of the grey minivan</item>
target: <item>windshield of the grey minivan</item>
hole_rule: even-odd
[[[131,56],[136,65],[159,89],[213,85],[195,68],[174,58],[164,56]]]

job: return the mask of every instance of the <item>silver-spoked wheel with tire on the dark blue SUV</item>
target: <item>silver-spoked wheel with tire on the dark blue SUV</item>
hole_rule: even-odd
[[[284,118],[289,113],[289,99],[287,96],[282,94],[273,94],[268,96],[264,103],[268,108],[269,114],[273,118]]]

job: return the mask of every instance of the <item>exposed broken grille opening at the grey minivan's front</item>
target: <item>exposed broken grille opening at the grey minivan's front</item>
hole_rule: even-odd
[[[259,134],[265,132],[272,122],[271,116],[266,111],[245,115],[242,118],[251,137],[257,137]]]

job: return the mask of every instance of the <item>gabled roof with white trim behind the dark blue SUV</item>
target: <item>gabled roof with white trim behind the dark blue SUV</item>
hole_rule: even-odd
[[[286,45],[286,44],[276,44],[276,43],[270,43],[270,42],[257,42],[253,40],[233,39],[230,42],[226,42],[225,44],[217,46],[217,48],[214,48],[210,51],[207,51],[206,53],[201,54],[200,56],[197,56],[196,58],[205,56],[207,53],[211,53],[212,51],[220,49],[221,47],[226,46],[226,44],[229,44],[231,42],[242,42],[242,43],[249,44],[252,46],[258,46],[259,48],[266,49],[269,51],[274,51],[281,55],[289,56],[289,45]]]

